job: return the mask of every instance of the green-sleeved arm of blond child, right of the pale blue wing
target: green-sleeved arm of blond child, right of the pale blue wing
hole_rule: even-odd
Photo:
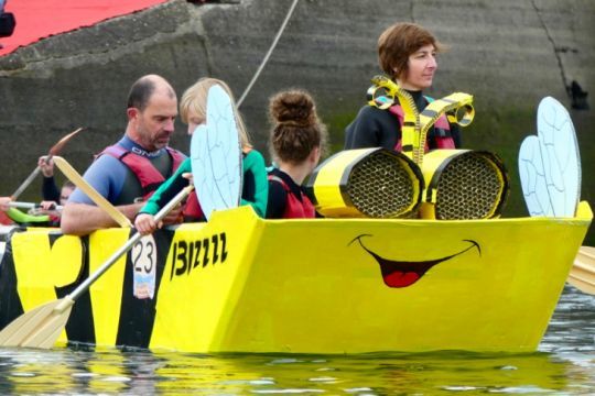
[[[258,151],[252,150],[242,162],[244,188],[240,205],[250,205],[258,216],[267,215],[267,199],[269,197],[269,180],[264,158]]]

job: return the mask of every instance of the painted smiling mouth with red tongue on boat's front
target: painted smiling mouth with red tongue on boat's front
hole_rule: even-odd
[[[464,240],[465,242],[469,242],[472,245],[458,253],[451,254],[445,257],[435,258],[435,260],[428,260],[422,262],[411,262],[411,261],[392,261],[387,260],[378,255],[377,253],[370,251],[368,248],[364,245],[361,242],[363,237],[371,237],[371,235],[359,235],[356,237],[349,244],[351,244],[354,241],[358,241],[359,245],[368,252],[380,265],[380,272],[382,273],[382,279],[385,280],[385,284],[388,287],[408,287],[413,285],[415,282],[421,279],[425,273],[432,268],[434,265],[440,264],[442,262],[445,262],[447,260],[451,260],[459,254],[465,253],[469,249],[477,248],[477,251],[479,252],[479,255],[482,254],[482,249],[479,248],[479,244],[475,241],[470,240]]]

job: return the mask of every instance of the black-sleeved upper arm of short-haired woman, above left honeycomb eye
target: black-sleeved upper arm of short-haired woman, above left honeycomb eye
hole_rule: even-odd
[[[385,147],[394,150],[401,136],[397,116],[366,106],[346,129],[345,150]]]

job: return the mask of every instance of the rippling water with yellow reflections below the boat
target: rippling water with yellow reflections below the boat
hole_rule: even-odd
[[[595,389],[595,297],[567,287],[537,353],[291,355],[0,349],[0,395],[554,394]]]

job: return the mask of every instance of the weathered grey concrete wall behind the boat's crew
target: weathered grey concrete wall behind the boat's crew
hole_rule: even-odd
[[[229,82],[239,97],[271,44],[292,0],[196,6],[184,0],[43,40],[0,58],[0,194],[10,194],[39,155],[77,127],[64,156],[80,170],[89,153],[117,140],[131,82],[158,73],[181,94],[198,77]],[[451,50],[440,56],[430,95],[475,96],[476,121],[465,145],[500,154],[513,180],[509,213],[524,208],[516,156],[534,132],[539,100],[567,106],[565,86],[595,92],[595,3],[589,0],[301,0],[275,52],[241,107],[257,147],[266,152],[267,102],[288,87],[309,89],[333,133],[365,101],[379,73],[376,40],[396,21],[418,22]],[[593,110],[571,111],[583,155],[583,197],[595,204]],[[173,145],[188,140],[180,124]],[[35,199],[36,187],[28,191]],[[595,241],[593,242],[595,243]]]

